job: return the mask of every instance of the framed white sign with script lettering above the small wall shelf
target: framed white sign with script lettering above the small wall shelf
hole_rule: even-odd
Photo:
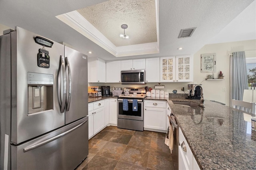
[[[216,72],[216,53],[201,54],[201,73]]]

